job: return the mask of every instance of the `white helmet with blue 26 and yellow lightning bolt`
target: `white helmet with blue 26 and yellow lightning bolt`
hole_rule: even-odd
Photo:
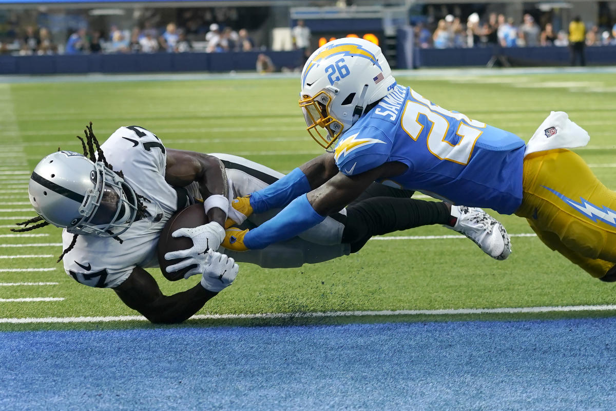
[[[307,131],[329,151],[371,104],[393,91],[395,79],[381,47],[360,38],[330,41],[312,53],[302,71],[299,107]],[[318,129],[325,129],[322,134]]]

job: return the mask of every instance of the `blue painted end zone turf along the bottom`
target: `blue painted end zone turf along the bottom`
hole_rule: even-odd
[[[0,334],[0,409],[614,409],[616,319]]]

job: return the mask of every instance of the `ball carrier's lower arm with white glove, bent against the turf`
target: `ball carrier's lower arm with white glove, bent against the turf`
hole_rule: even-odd
[[[232,258],[214,251],[210,251],[209,256],[210,262],[201,282],[189,290],[163,295],[152,275],[140,267],[136,267],[128,279],[113,290],[124,304],[153,323],[180,323],[192,317],[235,280],[238,266]]]

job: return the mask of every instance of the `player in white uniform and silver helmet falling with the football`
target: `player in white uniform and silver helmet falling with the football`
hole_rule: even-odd
[[[39,217],[24,223],[38,224],[15,231],[46,224],[62,227],[65,249],[60,259],[67,274],[90,287],[112,288],[124,303],[152,322],[182,322],[195,314],[233,282],[238,272],[235,261],[262,267],[326,261],[358,251],[371,235],[448,224],[451,211],[456,210],[446,203],[413,200],[408,198],[410,192],[376,185],[365,197],[383,193],[389,197],[365,198],[349,206],[348,216],[343,210],[286,242],[244,253],[227,251],[229,255],[225,255],[213,251],[224,239],[225,221],[227,225],[243,222],[254,227],[276,212],[238,221],[241,216],[229,199],[263,189],[283,174],[233,155],[166,149],[155,134],[138,126],[117,129],[99,146],[90,125],[82,143],[84,155],[55,152],[34,168],[28,192]],[[156,245],[168,219],[198,198],[205,198],[210,222],[177,230],[174,236],[192,238],[193,249],[168,253],[166,258],[184,258],[168,271],[197,264],[185,278],[201,274],[201,282],[187,291],[164,296],[145,269],[158,267]],[[384,218],[388,201],[405,201],[408,216]],[[231,213],[229,219],[227,213]],[[378,219],[378,230],[368,232],[367,219]],[[492,235],[491,227],[485,224],[479,235]]]

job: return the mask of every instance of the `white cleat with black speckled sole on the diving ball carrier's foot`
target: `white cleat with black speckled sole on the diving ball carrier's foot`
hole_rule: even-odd
[[[505,227],[484,210],[452,205],[452,217],[457,219],[455,226],[444,227],[466,235],[488,256],[504,260],[511,254],[511,241]]]

